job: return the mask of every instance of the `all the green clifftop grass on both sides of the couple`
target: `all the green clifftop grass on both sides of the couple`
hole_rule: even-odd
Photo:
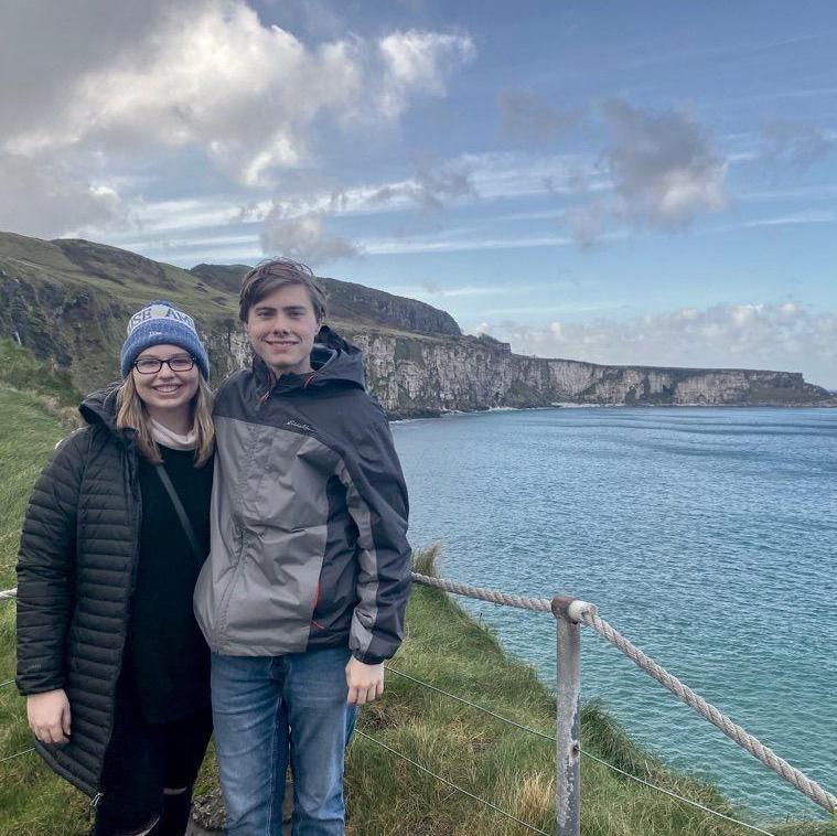
[[[25,362],[25,361],[20,361]],[[28,367],[29,368],[29,367]],[[28,376],[20,392],[0,383],[0,589],[14,586],[20,525],[32,484],[66,432],[54,411],[49,375]],[[40,383],[39,383],[40,382]],[[51,406],[53,404],[53,406]],[[421,570],[432,571],[422,558]],[[14,673],[14,603],[0,601],[0,682]],[[554,733],[554,700],[528,666],[509,658],[494,636],[443,593],[416,587],[407,635],[393,667],[497,714]],[[367,706],[358,728],[459,786],[547,833],[552,814],[554,747],[475,709],[387,674],[384,697]],[[0,758],[31,746],[24,700],[0,688]],[[666,770],[639,749],[600,706],[582,711],[582,746],[620,768],[737,817],[715,789]],[[198,792],[214,783],[207,758]],[[743,836],[748,830],[645,789],[582,760],[584,836]],[[779,780],[779,779],[776,779]],[[511,836],[519,825],[485,810],[406,761],[356,736],[346,772],[350,836]],[[0,836],[82,836],[85,796],[33,753],[0,764]],[[770,827],[768,829],[771,829]],[[772,828],[782,836],[825,836],[828,824]]]

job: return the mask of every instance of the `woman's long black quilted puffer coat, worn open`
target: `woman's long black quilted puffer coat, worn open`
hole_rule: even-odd
[[[99,792],[114,720],[139,554],[135,431],[116,429],[116,392],[81,407],[88,426],[66,438],[35,484],[18,561],[18,677],[23,695],[64,688],[72,733],[35,742],[63,778]]]

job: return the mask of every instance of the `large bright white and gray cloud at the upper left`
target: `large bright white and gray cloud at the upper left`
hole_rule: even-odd
[[[329,122],[390,122],[444,95],[475,52],[466,34],[419,30],[308,46],[244,0],[29,6],[0,13],[0,67],[20,82],[0,93],[0,151],[72,151],[79,172],[185,149],[238,185],[273,187],[315,162]]]

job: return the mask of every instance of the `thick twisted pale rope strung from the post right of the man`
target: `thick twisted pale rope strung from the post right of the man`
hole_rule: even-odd
[[[433,578],[418,572],[412,574],[412,580],[417,583],[422,583],[423,586],[434,587],[436,589],[441,589],[446,592],[473,598],[479,601],[490,601],[492,603],[516,607],[518,609],[532,610],[535,612],[552,612],[552,601],[546,598],[524,598],[522,596],[507,594],[485,587],[473,587],[468,583],[442,580],[441,578]],[[709,722],[719,728],[725,735],[727,735],[727,737],[742,747],[745,751],[750,752],[750,754],[775,772],[780,778],[796,787],[815,804],[818,804],[833,815],[837,815],[837,797],[823,789],[816,781],[809,779],[804,772],[780,758],[760,740],[752,735],[749,735],[729,717],[691,690],[691,688],[682,683],[677,677],[669,674],[664,667],[654,662],[654,660],[643,653],[639,647],[634,646],[607,621],[601,619],[593,605],[576,600],[569,605],[568,612],[570,618],[577,623],[582,623],[591,628],[595,633],[626,655],[642,671],[645,671],[645,673],[670,690],[678,699],[697,711],[701,717],[709,720]]]

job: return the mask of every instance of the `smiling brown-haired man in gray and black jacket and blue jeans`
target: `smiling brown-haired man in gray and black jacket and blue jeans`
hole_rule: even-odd
[[[311,271],[244,278],[253,369],[217,394],[212,551],[195,589],[213,651],[227,833],[344,833],[343,759],[356,706],[384,689],[409,593],[407,491],[361,352],[321,328]],[[316,342],[315,342],[316,340]]]

